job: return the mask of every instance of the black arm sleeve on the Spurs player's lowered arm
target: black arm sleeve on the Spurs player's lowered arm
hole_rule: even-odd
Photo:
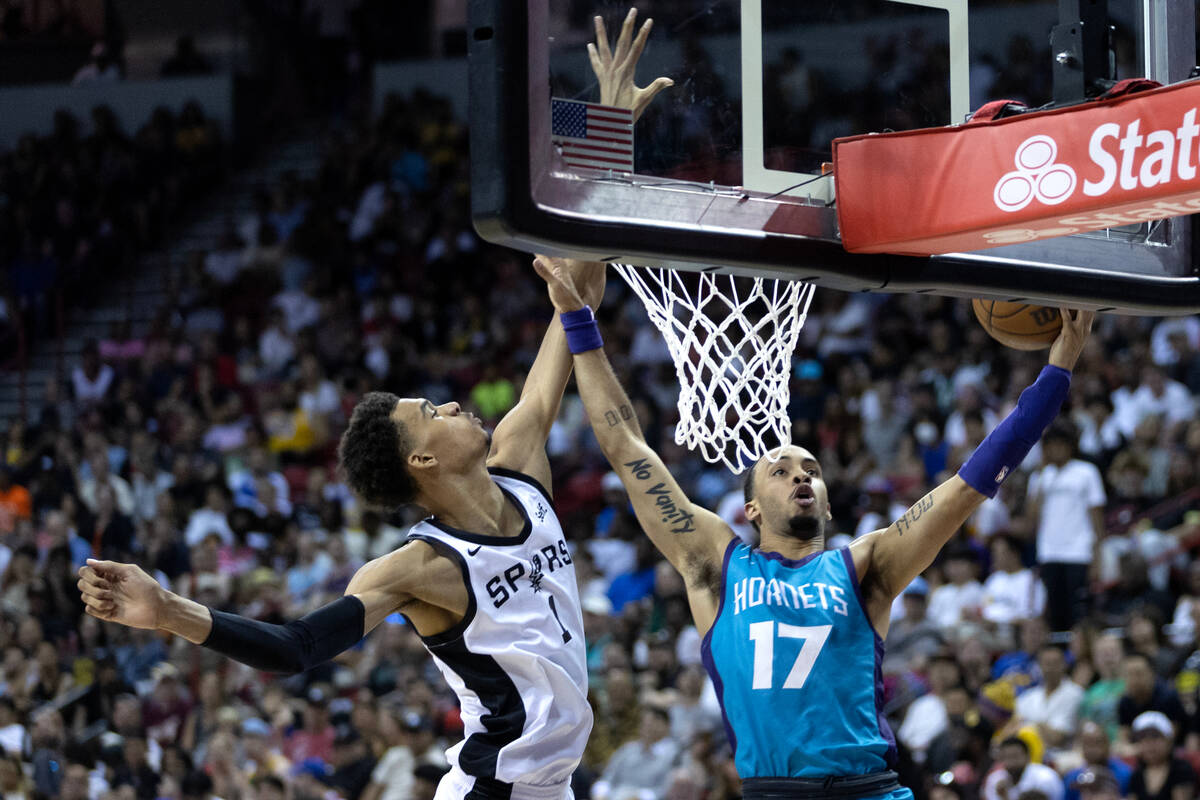
[[[203,646],[256,669],[287,674],[305,672],[353,648],[362,638],[366,619],[362,601],[354,596],[338,597],[287,625],[209,610],[212,631]]]

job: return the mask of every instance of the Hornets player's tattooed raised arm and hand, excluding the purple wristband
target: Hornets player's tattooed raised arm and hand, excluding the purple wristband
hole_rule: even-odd
[[[564,320],[565,312],[590,318],[560,265],[538,258],[534,266],[550,287],[550,297]],[[721,557],[733,531],[720,517],[691,503],[662,459],[646,444],[634,405],[604,348],[577,353],[575,375],[600,450],[625,485],[643,530],[688,584],[696,625],[707,628],[703,619],[707,614],[697,601],[719,577]],[[715,607],[712,610],[715,614]],[[710,624],[712,619],[707,621]]]

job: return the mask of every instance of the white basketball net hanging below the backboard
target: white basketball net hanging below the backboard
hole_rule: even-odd
[[[734,474],[791,444],[792,353],[812,284],[614,266],[671,350],[679,378],[676,444]]]

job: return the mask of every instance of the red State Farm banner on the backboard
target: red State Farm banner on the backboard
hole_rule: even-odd
[[[932,255],[1200,211],[1200,82],[835,139],[842,246]]]

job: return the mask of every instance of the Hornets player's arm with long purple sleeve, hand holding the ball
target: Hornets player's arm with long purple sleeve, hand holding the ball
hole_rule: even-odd
[[[917,501],[887,530],[872,549],[870,579],[895,597],[924,572],[954,531],[1028,455],[1058,415],[1070,390],[1070,371],[1079,359],[1092,312],[1062,311],[1063,326],[1050,349],[1049,363],[1016,401],[1016,408],[976,447],[958,475]]]

